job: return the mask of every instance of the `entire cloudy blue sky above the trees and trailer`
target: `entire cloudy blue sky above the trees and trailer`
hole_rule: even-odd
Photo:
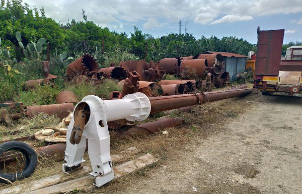
[[[116,32],[144,33],[161,37],[182,33],[185,27],[196,38],[202,35],[236,36],[257,43],[261,30],[285,29],[284,43],[302,41],[302,0],[24,0],[31,7],[44,7],[46,16],[65,24],[67,19],[88,20]],[[185,22],[187,22],[185,24]]]

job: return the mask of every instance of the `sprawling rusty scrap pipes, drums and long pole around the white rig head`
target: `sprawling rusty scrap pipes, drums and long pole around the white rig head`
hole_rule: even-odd
[[[149,98],[151,113],[173,109],[189,111],[193,105],[244,96],[252,91],[251,89],[247,89],[247,85],[241,85],[224,91],[199,92],[199,89],[207,89],[211,85],[223,87],[229,84],[229,73],[222,71],[224,62],[220,54],[200,54],[189,57],[166,58],[156,63],[153,61],[147,63],[144,60],[121,61],[118,66],[114,64],[111,66],[99,69],[99,64],[94,57],[85,54],[68,65],[66,81],[69,81],[71,84],[88,81],[102,84],[103,78],[120,80],[119,84],[122,85],[122,92],[112,92],[110,99],[122,99],[128,94],[141,92]],[[43,62],[42,67],[45,78],[27,81],[24,85],[25,90],[30,90],[38,84],[51,84],[51,80],[56,78],[56,76],[49,74],[48,62]],[[167,75],[173,75],[179,79],[163,79]],[[79,102],[77,96],[72,92],[63,91],[56,98],[57,104],[22,106],[22,103],[19,103],[18,105],[22,106],[21,113],[6,114],[3,111],[1,120],[4,121],[7,117],[18,119],[23,115],[32,118],[41,112],[57,115],[63,119],[58,126],[40,130],[33,136],[17,140],[24,141],[36,137],[36,139],[55,143],[37,148],[36,152],[43,157],[55,156],[55,160],[62,160],[66,148],[66,143],[64,143],[66,141],[66,130],[70,122],[69,113],[74,109],[73,103],[77,102]],[[13,107],[15,105],[16,103],[8,103],[4,106]],[[164,128],[178,126],[182,122],[183,120],[180,118],[164,118],[136,125],[126,119],[121,119],[110,121],[107,125],[112,130],[111,135],[113,138],[125,138],[137,133],[144,135],[153,134]],[[0,165],[4,161],[0,157]]]

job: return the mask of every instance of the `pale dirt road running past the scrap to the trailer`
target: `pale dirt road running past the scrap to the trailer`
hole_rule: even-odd
[[[146,176],[132,193],[302,193],[302,98],[245,98],[238,117],[207,130]],[[119,191],[121,191],[119,190]]]

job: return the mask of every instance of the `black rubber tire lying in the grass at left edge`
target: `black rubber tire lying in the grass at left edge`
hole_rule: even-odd
[[[0,145],[0,155],[8,150],[20,151],[25,156],[25,167],[22,172],[14,174],[0,173],[0,176],[12,182],[29,177],[35,171],[38,162],[35,150],[22,141],[9,141]],[[9,183],[1,178],[0,182]]]

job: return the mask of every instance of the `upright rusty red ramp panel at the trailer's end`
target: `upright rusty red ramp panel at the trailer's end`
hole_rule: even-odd
[[[255,75],[278,76],[281,61],[284,29],[260,31]]]

